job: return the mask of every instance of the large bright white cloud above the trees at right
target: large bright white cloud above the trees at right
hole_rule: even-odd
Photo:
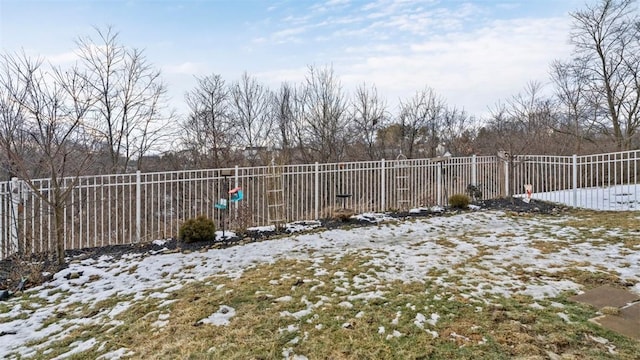
[[[481,114],[531,80],[546,82],[551,61],[569,54],[567,36],[560,18],[495,21],[406,45],[351,47],[352,63],[336,68],[346,87],[374,83],[390,104],[430,86],[450,105]]]

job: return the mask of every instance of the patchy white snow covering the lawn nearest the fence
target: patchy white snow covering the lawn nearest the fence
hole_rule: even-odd
[[[638,194],[640,191],[635,187],[624,192]],[[637,209],[637,203],[630,204],[632,209]],[[613,272],[635,284],[631,291],[640,294],[640,245],[635,245],[637,251],[629,251],[622,244],[612,246],[606,241],[599,241],[597,236],[593,241],[585,241],[575,228],[561,224],[566,220],[562,216],[513,217],[500,211],[476,210],[454,216],[397,221],[382,214],[363,215],[369,220],[385,222],[350,230],[297,232],[286,238],[207,252],[132,254],[121,259],[103,256],[97,260],[72,261],[67,269],[55,274],[52,282],[28,290],[30,300],[14,297],[0,303],[10,309],[0,313],[0,334],[4,334],[0,336],[0,358],[15,356],[11,354],[29,358],[39,349],[47,349],[53,342],[70,336],[75,329],[87,324],[110,324],[117,328],[123,324],[116,316],[135,302],[148,298],[167,299],[189,282],[216,274],[237,278],[246,269],[281,259],[314,261],[357,253],[370,258],[371,268],[379,269],[376,273],[378,280],[416,281],[437,270],[443,275],[436,281],[456,286],[466,296],[476,299],[491,294],[524,294],[543,299],[567,290],[580,292],[581,285],[573,281],[544,275],[579,266],[587,271],[605,269]],[[638,219],[640,221],[640,214]],[[609,235],[620,236],[621,239],[629,237],[624,233],[601,236]],[[443,239],[446,241],[437,241]],[[541,251],[532,239],[538,244],[558,244],[562,250]],[[479,248],[483,249],[482,252]],[[472,258],[474,260],[470,261]],[[318,274],[323,271],[321,267],[319,264]],[[515,268],[542,275],[524,280],[513,276]],[[446,284],[451,275],[458,274],[461,282]],[[350,296],[358,295],[353,295],[357,289],[350,291]],[[120,298],[129,295],[130,300],[100,309],[91,316],[77,316],[81,312],[78,304],[91,308],[116,295]],[[339,300],[344,306],[349,303],[346,295]],[[166,305],[170,302],[166,300]],[[216,310],[202,319],[202,323],[224,325],[236,314],[235,309],[224,304]],[[313,311],[313,308],[308,311]],[[56,314],[69,316],[51,323]],[[155,324],[162,327],[170,318],[170,312],[162,312]],[[431,318],[416,319],[416,326],[427,327],[430,321],[437,321],[437,314],[432,314]],[[380,329],[384,331],[384,324],[380,324]],[[393,335],[390,333],[389,336]],[[32,341],[39,343],[28,345]],[[69,352],[57,358],[103,346],[96,339],[78,340],[71,344]],[[105,350],[101,358],[118,359],[130,353],[124,348]],[[285,358],[291,355],[287,349],[283,349],[283,354]]]

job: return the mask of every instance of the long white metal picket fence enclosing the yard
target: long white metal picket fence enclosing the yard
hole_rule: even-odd
[[[332,207],[357,213],[433,205],[475,185],[483,198],[523,192],[579,205],[580,190],[607,191],[637,184],[640,151],[591,156],[472,156],[444,159],[381,160],[332,164],[235,167],[158,173],[114,174],[64,179],[72,187],[63,205],[67,249],[148,242],[176,237],[186,219],[205,215],[218,228],[269,225],[268,181],[277,175],[283,190],[284,220],[328,216]],[[231,176],[224,176],[231,173]],[[0,259],[15,252],[54,248],[50,179],[0,183]],[[229,212],[214,207],[230,188],[244,199]],[[338,195],[348,195],[339,197]],[[634,195],[635,196],[635,195]],[[562,197],[562,198],[561,198]],[[583,199],[584,200],[584,199]],[[638,202],[640,199],[635,199]],[[343,203],[344,202],[344,203]],[[240,217],[244,217],[240,219]],[[234,225],[235,224],[235,225]]]

